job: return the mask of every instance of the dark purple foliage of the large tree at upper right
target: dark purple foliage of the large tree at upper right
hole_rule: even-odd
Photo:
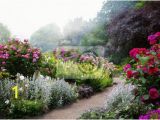
[[[120,63],[132,48],[149,47],[145,41],[148,34],[160,30],[159,4],[147,1],[144,7],[125,10],[112,19],[107,25],[109,42],[106,45],[106,56],[111,55],[111,61]]]

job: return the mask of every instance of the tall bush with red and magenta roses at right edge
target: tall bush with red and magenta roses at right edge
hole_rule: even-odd
[[[148,36],[150,49],[133,48],[131,63],[124,67],[127,81],[137,85],[136,96],[145,103],[158,104],[160,100],[160,32]]]

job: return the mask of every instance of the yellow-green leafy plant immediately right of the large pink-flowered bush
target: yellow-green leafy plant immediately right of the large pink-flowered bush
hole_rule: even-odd
[[[55,78],[56,75],[56,59],[50,53],[44,53],[42,55],[42,63],[40,72],[43,76],[50,76]]]

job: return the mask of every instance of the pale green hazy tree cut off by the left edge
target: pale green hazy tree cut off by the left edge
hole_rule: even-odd
[[[0,23],[0,42],[7,41],[11,36],[10,31],[6,26]]]

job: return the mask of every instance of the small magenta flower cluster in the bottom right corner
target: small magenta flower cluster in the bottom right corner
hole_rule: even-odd
[[[159,120],[160,119],[160,109],[149,111],[147,114],[141,115],[139,117],[139,120],[144,120],[144,119],[145,120],[150,120],[150,119]]]

